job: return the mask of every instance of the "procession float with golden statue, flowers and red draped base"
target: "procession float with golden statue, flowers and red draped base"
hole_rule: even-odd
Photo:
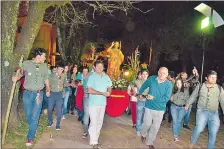
[[[99,57],[107,61],[107,70],[105,72],[112,80],[113,89],[111,96],[107,98],[106,113],[111,117],[120,116],[129,106],[127,87],[132,81],[135,81],[137,73],[140,71],[138,47],[131,56],[127,57],[127,63],[123,64],[122,68],[124,55],[121,51],[121,42],[116,41],[105,45],[104,50],[99,53],[96,53],[94,44],[90,43],[88,47],[88,50],[84,50],[82,55],[82,65],[89,67],[89,70],[91,70],[94,62]],[[147,64],[143,63],[141,67],[147,68]],[[81,94],[77,93],[77,95]]]

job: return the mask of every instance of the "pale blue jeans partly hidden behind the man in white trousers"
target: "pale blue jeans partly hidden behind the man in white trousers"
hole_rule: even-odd
[[[89,98],[84,97],[83,99],[83,108],[84,108],[84,116],[83,116],[83,125],[84,125],[84,133],[88,133],[89,129]]]

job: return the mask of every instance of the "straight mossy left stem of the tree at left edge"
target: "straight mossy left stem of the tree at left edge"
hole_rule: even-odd
[[[19,10],[19,1],[4,1],[2,2],[2,60],[1,60],[1,69],[2,69],[2,79],[1,79],[1,107],[2,107],[2,124],[5,121],[5,114],[8,107],[8,99],[12,86],[12,72],[13,66],[15,66],[15,57],[13,56],[14,40],[17,29],[17,17]],[[7,65],[7,63],[9,65]],[[6,64],[6,65],[5,65]],[[10,124],[17,123],[16,116],[16,102],[14,100],[12,103],[11,110],[11,120]],[[3,125],[2,125],[3,126]],[[3,128],[3,127],[2,127]]]

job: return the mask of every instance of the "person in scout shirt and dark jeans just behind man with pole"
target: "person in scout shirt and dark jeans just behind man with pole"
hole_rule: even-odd
[[[66,84],[66,75],[63,73],[63,71],[64,71],[64,64],[59,63],[56,66],[56,72],[52,73],[49,76],[51,94],[48,99],[47,127],[51,127],[53,124],[52,111],[54,109],[54,106],[56,106],[56,115],[57,115],[56,130],[61,130],[60,121],[61,121],[62,105],[63,105],[62,92]]]

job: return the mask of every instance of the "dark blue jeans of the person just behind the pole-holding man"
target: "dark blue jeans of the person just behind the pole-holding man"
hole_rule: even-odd
[[[62,104],[63,104],[62,92],[51,92],[51,95],[48,100],[48,124],[51,124],[53,122],[52,111],[54,109],[54,106],[56,105],[56,115],[57,115],[56,127],[60,126]]]

